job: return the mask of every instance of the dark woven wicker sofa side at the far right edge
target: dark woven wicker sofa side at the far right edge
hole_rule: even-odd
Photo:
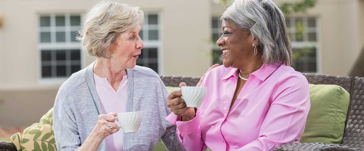
[[[341,144],[364,150],[364,77],[355,77]]]

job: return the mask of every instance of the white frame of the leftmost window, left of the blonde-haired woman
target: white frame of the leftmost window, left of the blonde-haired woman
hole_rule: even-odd
[[[55,17],[57,15],[62,15],[65,16],[65,26],[63,27],[56,27],[56,21],[55,21]],[[72,15],[79,15],[80,16],[80,22],[81,24],[83,23],[83,13],[79,12],[79,13],[40,13],[37,14],[37,80],[38,83],[40,84],[61,84],[64,81],[66,81],[68,79],[68,77],[50,77],[50,78],[43,78],[42,77],[42,58],[41,58],[41,50],[51,50],[51,51],[55,51],[55,50],[71,50],[71,49],[80,49],[81,48],[81,44],[79,42],[72,42],[70,37],[70,32],[72,31],[79,31],[80,29],[82,29],[82,26],[71,26],[70,24],[70,16]],[[50,16],[50,27],[41,27],[40,26],[40,17],[42,16]],[[47,31],[51,31],[51,42],[49,43],[41,43],[40,42],[40,33],[47,30]],[[65,29],[65,30],[62,30]],[[72,30],[73,29],[73,30]],[[66,31],[65,33],[65,38],[66,38],[66,42],[56,42],[56,35],[55,33],[57,32],[57,30],[62,30]],[[82,51],[80,52],[80,69],[86,67],[86,54],[82,53]]]

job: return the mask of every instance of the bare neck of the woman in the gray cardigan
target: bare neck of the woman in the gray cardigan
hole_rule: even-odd
[[[113,85],[115,82],[121,82],[123,76],[127,75],[126,68],[113,61],[113,59],[96,58],[94,73],[99,77],[107,78]]]

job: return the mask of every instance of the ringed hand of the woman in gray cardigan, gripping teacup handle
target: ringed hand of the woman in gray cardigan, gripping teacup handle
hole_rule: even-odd
[[[99,139],[105,139],[108,135],[114,134],[119,131],[120,127],[115,123],[116,113],[100,114],[98,122],[96,123],[92,134]],[[112,130],[110,130],[112,126]]]

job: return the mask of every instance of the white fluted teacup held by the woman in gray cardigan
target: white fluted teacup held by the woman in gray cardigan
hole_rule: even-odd
[[[140,123],[142,122],[142,112],[119,113],[115,119],[120,123],[119,127],[122,128],[125,133],[138,132]]]

